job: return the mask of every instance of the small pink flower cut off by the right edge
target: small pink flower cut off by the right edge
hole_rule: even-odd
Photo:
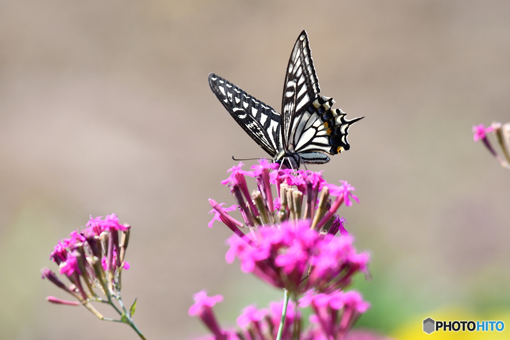
[[[503,157],[492,147],[487,137],[489,133],[493,133],[496,136],[500,147],[500,153]],[[501,123],[493,122],[489,127],[485,127],[483,124],[475,125],[473,126],[473,134],[475,142],[481,140],[489,152],[498,160],[499,164],[501,164],[503,168],[510,169],[510,123],[502,125]]]

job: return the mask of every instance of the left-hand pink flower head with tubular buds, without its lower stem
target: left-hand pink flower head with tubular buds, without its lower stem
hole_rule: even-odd
[[[71,285],[65,285],[48,268],[42,269],[42,278],[49,279],[82,302],[96,297],[94,287],[108,295],[114,289],[120,270],[130,267],[124,261],[130,228],[127,224],[120,224],[115,214],[105,219],[91,216],[83,230],[72,231],[69,238],[59,241],[50,254],[59,266],[60,274],[67,276]],[[48,299],[54,303],[58,300]]]

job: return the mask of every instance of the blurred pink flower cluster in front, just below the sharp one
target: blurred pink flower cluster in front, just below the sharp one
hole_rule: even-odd
[[[340,223],[340,222],[338,222]],[[241,270],[275,287],[304,293],[334,292],[350,283],[358,271],[367,272],[368,253],[356,253],[351,237],[333,237],[310,228],[310,220],[261,227],[255,237],[227,240],[227,263],[237,257]]]

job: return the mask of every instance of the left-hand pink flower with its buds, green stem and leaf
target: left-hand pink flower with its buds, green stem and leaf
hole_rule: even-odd
[[[59,241],[50,254],[50,258],[59,266],[60,274],[65,275],[70,284],[66,285],[48,268],[43,268],[41,272],[42,278],[47,278],[78,300],[67,301],[48,296],[47,301],[66,305],[82,304],[100,320],[129,324],[144,339],[132,320],[136,299],[126,309],[120,294],[122,269],[130,268],[124,260],[130,230],[131,226],[120,224],[115,214],[105,219],[91,216],[83,230],[72,231],[69,238]],[[119,313],[120,319],[104,317],[91,302],[110,304]]]

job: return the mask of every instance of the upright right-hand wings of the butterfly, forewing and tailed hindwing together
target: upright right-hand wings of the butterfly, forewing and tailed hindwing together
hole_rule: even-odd
[[[331,109],[333,98],[319,93],[307,32],[303,30],[292,50],[285,77],[282,137],[285,151],[297,154],[305,163],[326,163],[329,157],[325,153],[348,150],[347,130],[363,118],[345,119],[342,110]]]

